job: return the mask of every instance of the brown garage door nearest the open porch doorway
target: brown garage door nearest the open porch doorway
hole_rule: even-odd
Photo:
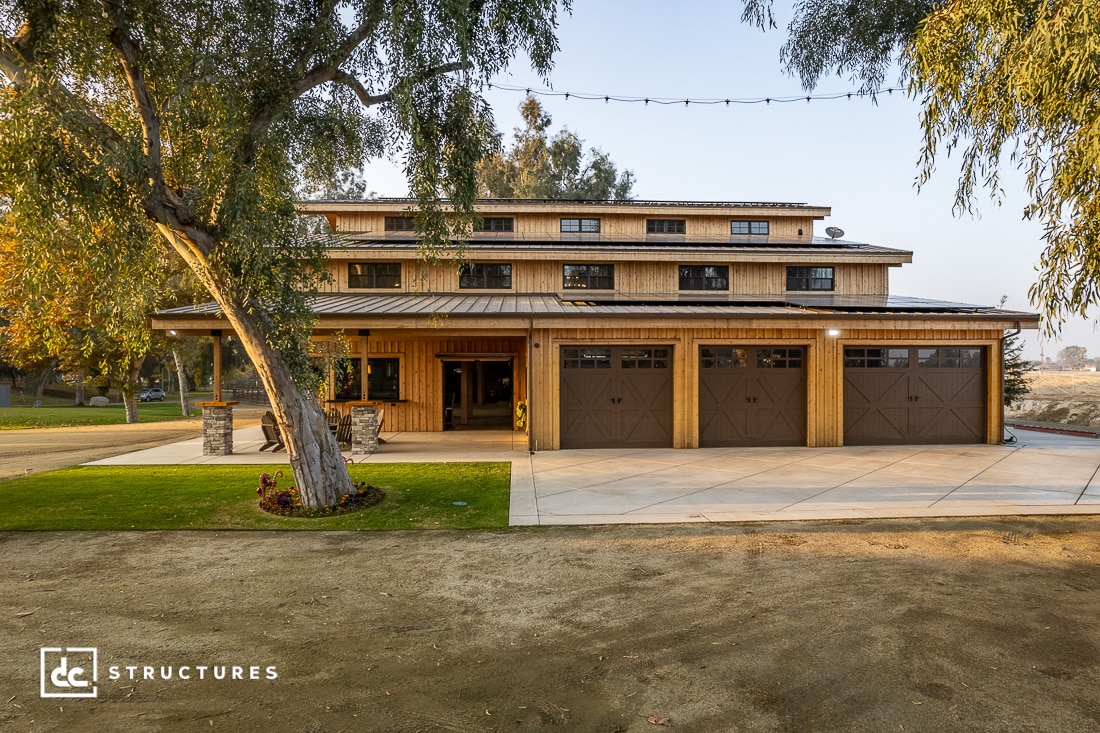
[[[670,347],[563,347],[562,448],[671,448]]]

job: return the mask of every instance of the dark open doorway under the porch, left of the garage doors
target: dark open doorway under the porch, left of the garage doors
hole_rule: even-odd
[[[443,360],[443,429],[510,430],[512,357]]]

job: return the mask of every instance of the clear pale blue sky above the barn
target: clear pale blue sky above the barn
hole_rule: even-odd
[[[561,19],[561,51],[547,83],[554,91],[630,97],[795,96],[801,85],[779,62],[789,9],[788,0],[776,0],[779,29],[763,33],[741,23],[737,0],[580,0]],[[525,58],[497,81],[547,89]],[[832,77],[813,94],[857,87]],[[510,141],[524,94],[493,89],[487,96]],[[539,99],[553,118],[551,134],[566,127],[635,173],[636,198],[828,206],[833,215],[817,222],[818,236],[836,226],[845,239],[913,252],[912,264],[891,270],[892,293],[977,305],[1007,295],[1005,307],[1037,310],[1027,287],[1042,227],[1023,219],[1023,176],[1004,172],[1000,205],[980,194],[978,218],[953,214],[954,160],[941,158],[919,194],[920,105],[904,94],[882,96],[877,106],[866,98],[729,107]],[[391,162],[370,164],[366,178],[380,196],[408,190]],[[1067,344],[1100,355],[1091,320],[1067,322],[1059,339],[1024,336],[1032,359],[1041,348],[1056,357]]]

